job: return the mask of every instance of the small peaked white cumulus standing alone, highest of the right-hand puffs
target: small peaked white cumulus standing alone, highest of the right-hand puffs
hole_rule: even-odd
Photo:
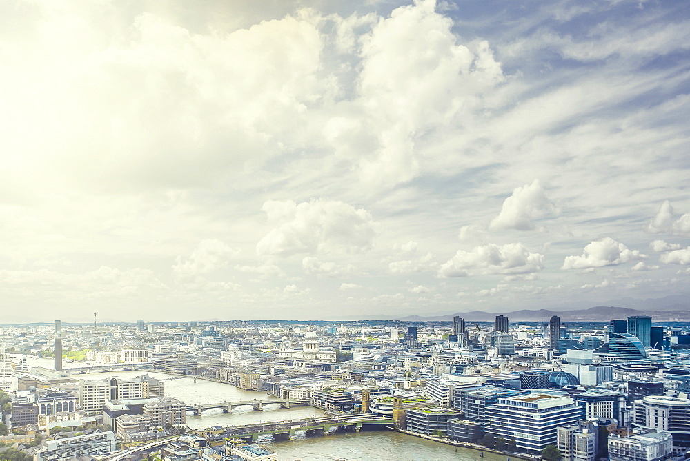
[[[501,212],[491,220],[489,228],[533,230],[535,219],[555,213],[555,206],[546,197],[539,180],[535,179],[532,184],[513,190],[513,195],[505,199]]]

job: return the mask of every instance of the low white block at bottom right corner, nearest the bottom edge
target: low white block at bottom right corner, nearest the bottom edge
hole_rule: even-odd
[[[673,453],[673,437],[665,431],[619,437],[609,435],[609,460],[660,461]]]

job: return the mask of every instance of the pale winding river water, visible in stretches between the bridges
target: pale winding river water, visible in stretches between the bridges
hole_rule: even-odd
[[[52,368],[52,361],[45,359],[29,360],[29,366],[46,366]],[[75,375],[75,379],[103,379],[111,376],[130,378],[142,375],[141,371],[120,371],[112,373],[90,373]],[[270,400],[273,398],[265,392],[244,391],[230,384],[184,377],[169,379],[173,376],[163,373],[148,373],[151,377],[166,380],[166,395],[178,398],[188,404],[215,403],[237,400]],[[232,413],[210,409],[203,415],[194,416],[187,413],[187,424],[194,429],[210,426],[236,426],[284,420],[299,420],[323,415],[324,411],[312,406],[294,406],[290,409],[278,405],[264,406],[263,411],[253,411],[250,406],[239,407]],[[278,455],[280,460],[486,460],[506,461],[506,456],[480,453],[462,447],[433,442],[413,435],[393,431],[367,431],[359,433],[337,433],[333,435],[316,435],[305,437],[297,434],[295,440],[266,443]],[[516,458],[511,458],[515,460]]]

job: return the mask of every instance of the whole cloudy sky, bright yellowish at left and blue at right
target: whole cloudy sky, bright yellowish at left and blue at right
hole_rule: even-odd
[[[688,37],[684,0],[0,2],[0,322],[687,295]]]

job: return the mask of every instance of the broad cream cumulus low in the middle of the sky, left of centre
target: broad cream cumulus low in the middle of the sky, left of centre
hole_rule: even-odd
[[[284,223],[259,240],[259,256],[357,253],[370,249],[376,235],[371,214],[344,202],[266,202],[262,210]]]

